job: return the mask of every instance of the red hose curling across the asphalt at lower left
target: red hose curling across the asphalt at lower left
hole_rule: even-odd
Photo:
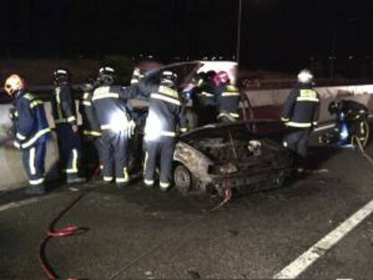
[[[95,176],[98,174],[100,171],[100,165],[96,168],[95,173],[91,178],[87,181],[86,184],[89,184],[92,182],[92,180],[95,178]],[[90,191],[93,188],[90,189]],[[45,275],[48,276],[49,279],[58,279],[60,278],[52,266],[50,265],[50,262],[48,261],[46,255],[45,255],[45,248],[47,247],[48,242],[50,239],[53,238],[59,238],[59,237],[68,237],[74,234],[78,234],[80,232],[86,231],[86,229],[79,228],[77,226],[68,226],[59,230],[55,230],[54,227],[57,224],[57,222],[71,209],[73,208],[88,192],[84,192],[82,194],[79,194],[76,199],[72,203],[69,203],[68,206],[62,211],[59,212],[56,218],[54,218],[49,226],[48,226],[48,232],[46,233],[46,237],[43,239],[41,242],[41,245],[39,247],[39,263],[41,265],[42,270],[44,271]],[[77,277],[69,277],[67,278],[68,280],[77,280]]]

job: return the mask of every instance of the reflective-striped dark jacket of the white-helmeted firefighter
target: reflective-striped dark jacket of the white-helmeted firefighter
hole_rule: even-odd
[[[297,84],[284,104],[281,120],[287,126],[312,128],[317,125],[320,95],[310,85]]]

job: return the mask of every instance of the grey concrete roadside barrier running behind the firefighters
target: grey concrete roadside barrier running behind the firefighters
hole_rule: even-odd
[[[322,96],[322,109],[320,114],[320,122],[328,122],[332,117],[327,111],[328,104],[336,98],[352,99],[359,103],[368,106],[369,112],[373,110],[373,86],[332,86],[332,87],[317,87],[316,90]],[[257,112],[260,112],[261,107],[277,108],[277,117],[279,115],[282,104],[287,99],[290,89],[281,90],[254,90],[247,92],[250,103],[257,107]],[[146,105],[146,103],[132,102],[133,105]],[[11,127],[11,122],[8,117],[11,104],[0,104],[0,192],[19,188],[27,184],[27,177],[23,171],[22,153],[13,147],[11,140],[6,131]],[[54,127],[51,117],[50,103],[45,103],[50,127]],[[263,112],[266,112],[263,110]],[[267,111],[268,112],[268,111]],[[273,111],[275,112],[275,111]],[[260,117],[266,117],[262,115]],[[272,117],[272,116],[270,116]],[[81,118],[78,115],[78,122]],[[53,170],[59,158],[57,141],[55,138],[48,144],[46,169],[51,177],[56,176],[56,170]]]

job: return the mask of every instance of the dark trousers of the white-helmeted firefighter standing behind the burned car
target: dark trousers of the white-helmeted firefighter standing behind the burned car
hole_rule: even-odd
[[[287,134],[284,139],[284,146],[296,152],[299,161],[305,161],[307,156],[308,140],[311,134],[311,129],[299,129],[298,131]]]

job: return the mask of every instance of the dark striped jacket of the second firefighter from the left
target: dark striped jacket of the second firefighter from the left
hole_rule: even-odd
[[[77,124],[77,107],[71,87],[57,86],[51,100],[52,114],[56,124],[69,122]]]

